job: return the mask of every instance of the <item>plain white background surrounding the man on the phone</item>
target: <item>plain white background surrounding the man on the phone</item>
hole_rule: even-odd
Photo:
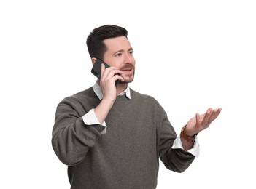
[[[185,172],[160,163],[158,188],[255,188],[255,1],[0,1],[1,186],[69,188],[51,146],[55,108],[95,82],[85,40],[128,29],[131,88],[155,97],[179,133],[222,108]],[[2,187],[1,187],[2,188]]]

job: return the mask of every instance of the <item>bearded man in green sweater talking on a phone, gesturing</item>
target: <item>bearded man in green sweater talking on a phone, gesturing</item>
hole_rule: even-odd
[[[181,128],[177,137],[157,100],[129,88],[135,73],[128,32],[117,25],[95,28],[87,39],[92,63],[104,60],[93,87],[62,100],[52,144],[68,165],[71,188],[156,188],[159,158],[184,172],[198,156],[196,134],[221,108],[209,108]],[[116,82],[118,81],[118,82]]]

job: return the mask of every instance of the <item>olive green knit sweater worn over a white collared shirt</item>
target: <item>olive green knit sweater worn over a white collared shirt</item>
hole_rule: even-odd
[[[171,146],[177,134],[165,110],[153,98],[131,89],[131,99],[117,96],[102,125],[85,125],[82,116],[100,100],[93,87],[66,97],[56,110],[53,149],[73,189],[156,188],[159,158],[183,172],[195,156]],[[171,179],[171,178],[170,178]]]

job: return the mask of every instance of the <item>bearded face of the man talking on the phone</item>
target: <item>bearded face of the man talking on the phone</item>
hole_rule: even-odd
[[[124,73],[121,75],[125,83],[133,81],[135,73],[135,59],[133,57],[133,48],[125,36],[111,39],[105,39],[106,52],[104,53],[104,62],[114,66]]]

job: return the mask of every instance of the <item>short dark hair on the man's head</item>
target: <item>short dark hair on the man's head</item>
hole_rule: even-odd
[[[86,44],[90,57],[96,57],[103,60],[106,52],[105,39],[125,36],[127,38],[128,31],[117,25],[102,25],[90,32]]]

